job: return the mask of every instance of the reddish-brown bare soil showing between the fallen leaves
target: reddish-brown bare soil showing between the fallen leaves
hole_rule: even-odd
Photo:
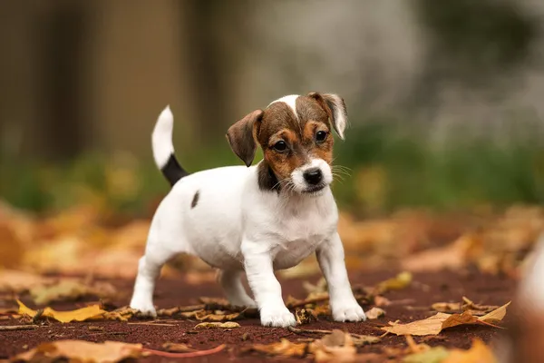
[[[395,275],[395,271],[381,271],[373,273],[355,273],[351,276],[353,285],[372,286],[373,284],[389,279]],[[319,276],[313,277],[311,282],[316,282]],[[298,299],[304,299],[306,291],[302,289],[302,280],[282,280],[284,295],[293,295]],[[127,305],[131,294],[132,281],[112,281],[122,292],[122,296],[115,301],[119,306]],[[379,329],[388,321],[399,319],[403,322],[414,319],[424,319],[433,314],[429,309],[430,305],[439,301],[460,301],[466,296],[474,302],[502,305],[508,302],[513,295],[515,281],[481,275],[479,273],[422,273],[414,275],[414,282],[407,289],[391,291],[385,294],[387,299],[392,301],[405,300],[398,305],[385,307],[386,317],[377,320],[368,320],[364,323],[336,323],[329,320],[320,320],[297,328],[301,329],[345,329],[352,333],[368,334],[378,336],[383,333]],[[190,305],[197,303],[201,296],[221,297],[219,286],[215,284],[203,284],[193,286],[184,283],[182,280],[160,280],[156,290],[155,304],[159,308],[170,308],[179,305]],[[82,305],[81,303],[78,303]],[[54,309],[74,309],[74,303],[53,304]],[[32,306],[32,304],[29,304]],[[371,307],[364,307],[369,309]],[[508,319],[508,315],[507,315]],[[218,354],[201,358],[188,358],[185,361],[199,362],[224,362],[224,361],[266,361],[267,358],[257,354],[242,354],[241,348],[248,347],[255,343],[271,343],[279,338],[288,338],[296,341],[299,338],[320,338],[316,335],[296,335],[287,329],[264,328],[259,325],[257,319],[238,321],[239,329],[225,331],[222,329],[208,329],[194,332],[193,327],[197,321],[181,319],[163,319],[160,323],[165,325],[146,325],[149,321],[139,320],[130,323],[118,321],[82,322],[61,324],[51,322],[38,329],[21,331],[3,331],[0,333],[0,359],[9,358],[16,353],[26,349],[34,348],[41,342],[78,338],[89,341],[100,342],[104,340],[117,340],[131,343],[141,343],[146,348],[162,349],[165,342],[185,343],[193,348],[206,349],[215,348],[219,344],[226,343],[228,347]],[[141,324],[146,323],[146,324]],[[0,325],[21,324],[16,319],[0,320]],[[168,325],[166,325],[168,324]],[[102,331],[89,329],[90,326],[102,327]],[[490,342],[500,334],[500,329],[491,327],[458,327],[443,331],[435,338],[415,338],[417,342],[423,339],[425,343],[435,346],[469,348],[472,338],[481,338]],[[243,339],[245,337],[246,339]],[[360,352],[381,353],[384,347],[403,348],[406,346],[405,338],[386,336],[378,344],[360,348]],[[149,357],[142,361],[166,362],[172,358]],[[275,361],[301,361],[296,358],[273,358]],[[305,359],[310,361],[310,359]]]

